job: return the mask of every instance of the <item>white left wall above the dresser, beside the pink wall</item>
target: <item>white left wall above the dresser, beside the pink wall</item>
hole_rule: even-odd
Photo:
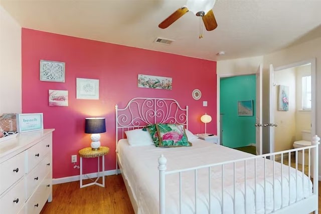
[[[21,26],[0,6],[0,115],[22,112]]]

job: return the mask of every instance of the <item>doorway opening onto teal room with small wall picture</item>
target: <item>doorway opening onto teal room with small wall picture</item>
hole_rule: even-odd
[[[255,151],[256,75],[222,77],[219,86],[221,145]]]

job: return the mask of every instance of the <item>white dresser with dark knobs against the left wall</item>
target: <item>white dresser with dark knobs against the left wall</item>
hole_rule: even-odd
[[[0,213],[40,213],[52,201],[52,132],[19,133],[0,142]]]

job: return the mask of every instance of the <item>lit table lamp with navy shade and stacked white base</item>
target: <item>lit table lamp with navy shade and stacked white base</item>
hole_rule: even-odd
[[[104,117],[89,117],[85,119],[85,133],[91,134],[91,150],[99,150],[100,133],[106,132],[106,120]]]

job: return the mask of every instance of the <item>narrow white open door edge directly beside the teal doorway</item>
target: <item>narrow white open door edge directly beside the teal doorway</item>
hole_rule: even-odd
[[[262,154],[262,65],[256,72],[256,154]]]

